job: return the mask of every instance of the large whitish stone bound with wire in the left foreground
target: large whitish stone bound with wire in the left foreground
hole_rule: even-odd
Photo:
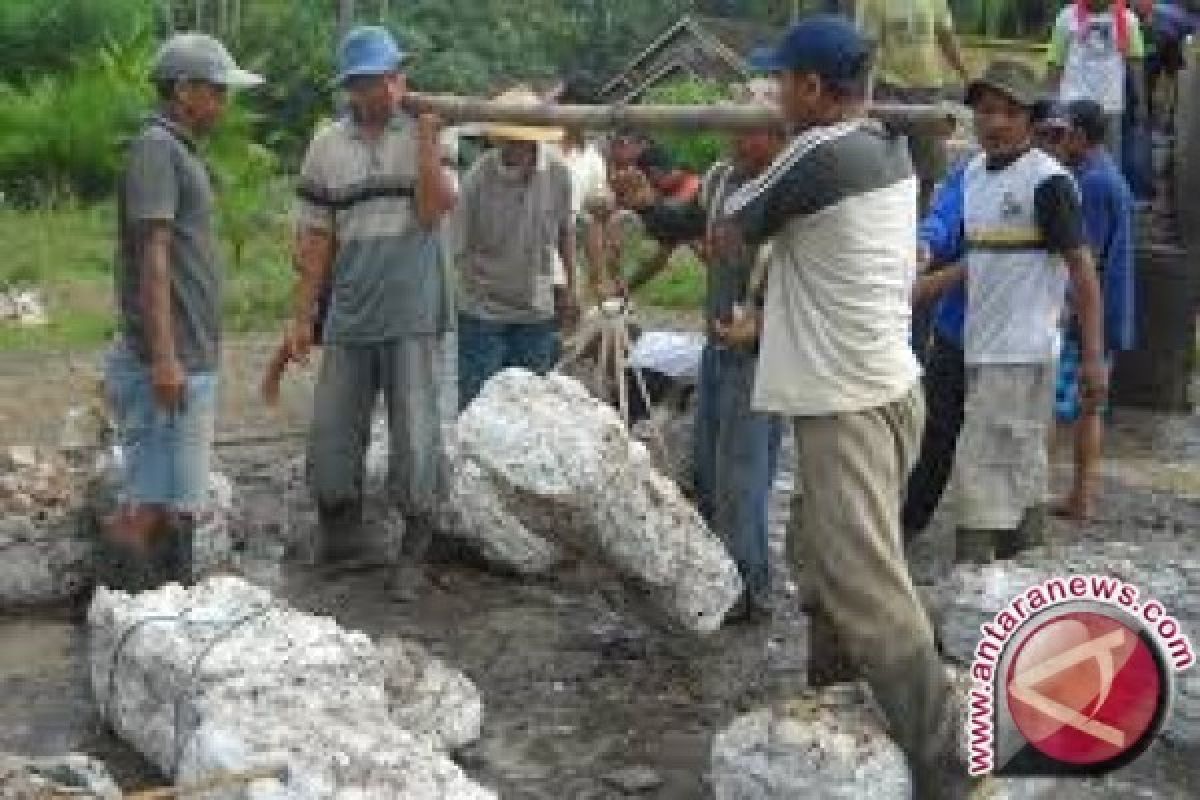
[[[389,698],[385,658],[365,634],[287,608],[245,581],[217,576],[136,596],[102,589],[89,626],[101,714],[163,774],[187,783],[217,770],[287,766],[282,782],[211,800],[494,798],[434,746],[431,734],[466,735],[461,716],[450,727],[420,716],[452,708],[452,670],[418,663],[404,684],[412,702]],[[421,687],[440,694],[414,697]],[[352,790],[360,794],[344,794]]]

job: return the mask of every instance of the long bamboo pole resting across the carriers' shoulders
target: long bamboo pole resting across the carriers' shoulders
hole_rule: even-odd
[[[449,125],[490,122],[536,127],[565,127],[589,131],[632,128],[642,131],[755,131],[782,126],[778,109],[767,106],[557,106],[538,103],[514,106],[478,97],[413,92],[407,107],[432,112]],[[954,104],[872,106],[868,113],[889,125],[911,132],[949,134],[953,124],[965,116]]]

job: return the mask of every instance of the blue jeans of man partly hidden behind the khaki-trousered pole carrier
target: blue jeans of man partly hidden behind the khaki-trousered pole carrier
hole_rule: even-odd
[[[712,344],[700,363],[695,470],[701,515],[730,548],[746,593],[770,590],[767,507],[784,427],[751,410],[758,357]]]

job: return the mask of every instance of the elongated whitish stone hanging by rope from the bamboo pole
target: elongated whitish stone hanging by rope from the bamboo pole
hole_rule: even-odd
[[[460,416],[457,440],[454,469],[476,464],[530,533],[607,564],[673,624],[712,632],[737,601],[725,547],[578,381],[508,369]]]

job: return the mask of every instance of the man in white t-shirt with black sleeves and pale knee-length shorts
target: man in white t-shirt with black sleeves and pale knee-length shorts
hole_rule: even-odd
[[[1033,71],[996,61],[971,84],[983,154],[966,167],[961,249],[966,267],[966,405],[954,459],[956,560],[1013,558],[1040,542],[1049,477],[1060,323],[1066,290],[1082,336],[1084,407],[1108,390],[1103,300],[1067,170],[1033,146]]]

